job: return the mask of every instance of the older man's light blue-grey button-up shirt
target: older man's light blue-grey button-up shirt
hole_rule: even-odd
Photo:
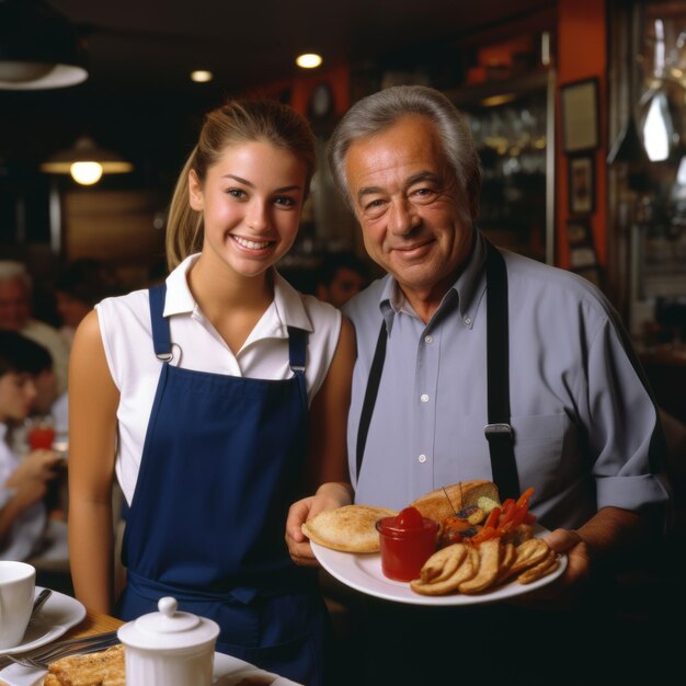
[[[655,465],[662,434],[627,336],[585,279],[510,252],[510,395],[522,490],[548,528],[574,528],[604,506],[664,504]],[[492,479],[487,420],[485,242],[428,324],[397,283],[381,278],[350,300],[355,325],[347,445],[355,501],[400,510],[457,481]],[[386,363],[364,462],[357,430],[381,320]]]

